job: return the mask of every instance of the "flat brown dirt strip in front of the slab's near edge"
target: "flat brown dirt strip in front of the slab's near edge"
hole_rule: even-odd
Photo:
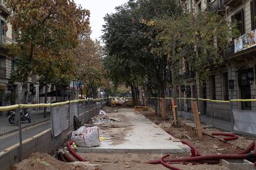
[[[148,160],[158,160],[163,155],[161,154],[143,154],[143,153],[79,153],[79,155],[83,156],[85,160],[88,160],[93,164],[100,164],[103,170],[119,170],[119,169],[141,169],[141,170],[165,170],[165,168],[161,164],[147,164]],[[172,157],[176,157],[177,155],[172,155]],[[181,155],[180,155],[181,156]],[[175,164],[176,168],[180,169],[198,169],[198,170],[206,170],[206,169],[228,169],[221,168],[218,165],[209,165],[209,164],[198,164],[198,165],[184,165],[184,164]]]

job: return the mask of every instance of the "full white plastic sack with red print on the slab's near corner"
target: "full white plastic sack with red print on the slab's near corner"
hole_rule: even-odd
[[[97,147],[100,145],[99,127],[81,126],[72,132],[72,139],[78,147]]]

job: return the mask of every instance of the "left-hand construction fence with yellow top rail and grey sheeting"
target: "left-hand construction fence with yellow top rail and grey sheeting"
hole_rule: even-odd
[[[15,110],[14,124],[10,124],[8,118],[0,119],[1,169],[9,169],[33,152],[54,152],[64,142],[67,133],[74,129],[74,116],[82,124],[88,123],[111,98],[0,107],[0,111]],[[46,118],[43,110],[32,111],[32,108],[44,107]],[[20,110],[30,112],[31,123],[20,118]]]

